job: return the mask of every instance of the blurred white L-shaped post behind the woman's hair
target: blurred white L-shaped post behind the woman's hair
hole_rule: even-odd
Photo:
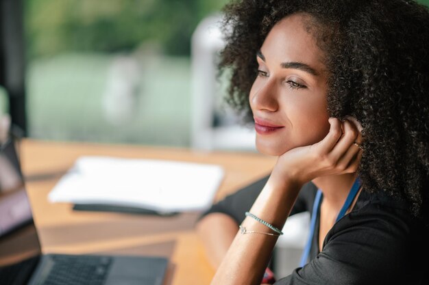
[[[217,81],[219,52],[225,45],[221,21],[220,14],[205,18],[192,37],[191,146],[202,150],[256,150],[253,129],[238,124],[213,126],[215,110],[224,95]],[[225,117],[231,115],[227,110]]]

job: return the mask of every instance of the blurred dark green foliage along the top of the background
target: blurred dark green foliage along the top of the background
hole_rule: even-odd
[[[188,55],[199,21],[225,0],[26,0],[30,58],[60,51],[115,52],[156,42]]]

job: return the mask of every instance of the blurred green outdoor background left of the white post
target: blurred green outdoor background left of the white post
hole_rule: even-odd
[[[24,0],[29,137],[189,146],[191,36],[227,2]]]

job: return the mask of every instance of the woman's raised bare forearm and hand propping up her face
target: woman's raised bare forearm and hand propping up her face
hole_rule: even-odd
[[[351,120],[330,118],[329,122],[328,135],[317,144],[294,148],[278,158],[250,213],[282,228],[304,183],[319,176],[356,172],[362,155],[354,144],[360,142],[358,127]],[[250,217],[242,226],[269,232],[267,226]],[[276,236],[238,232],[212,285],[260,284],[276,242]]]

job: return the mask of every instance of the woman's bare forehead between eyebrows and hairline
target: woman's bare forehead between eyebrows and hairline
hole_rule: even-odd
[[[310,21],[306,14],[293,14],[276,23],[261,47],[267,61],[302,62],[323,70],[323,53],[309,31]]]

